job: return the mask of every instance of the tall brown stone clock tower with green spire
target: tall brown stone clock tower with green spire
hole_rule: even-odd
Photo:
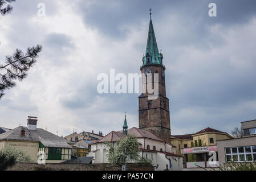
[[[169,99],[165,93],[165,66],[162,64],[162,59],[162,53],[159,53],[157,48],[152,19],[150,19],[147,48],[140,71],[146,77],[146,81],[142,83],[145,88],[149,83],[154,82],[154,74],[159,75],[159,93],[158,97],[153,99],[148,97],[153,95],[148,90],[139,96],[139,128],[151,131],[166,142],[170,142]],[[152,88],[153,86],[155,85],[152,84]]]

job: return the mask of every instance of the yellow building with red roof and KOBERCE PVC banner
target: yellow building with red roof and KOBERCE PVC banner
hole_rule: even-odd
[[[195,134],[172,135],[170,143],[177,146],[178,155],[184,156],[184,168],[206,168],[218,166],[217,140],[232,138],[228,133],[208,127]],[[214,164],[209,162],[213,155],[216,156]]]

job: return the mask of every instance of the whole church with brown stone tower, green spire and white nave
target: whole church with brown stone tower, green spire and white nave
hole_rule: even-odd
[[[156,80],[159,93],[154,95],[146,89],[145,93],[142,92],[139,96],[139,128],[128,129],[125,115],[123,131],[111,131],[92,143],[91,152],[87,155],[94,157],[92,163],[108,163],[104,150],[106,142],[115,146],[120,138],[133,135],[140,143],[140,155],[151,160],[157,171],[182,170],[183,156],[177,155],[176,146],[170,144],[169,100],[165,93],[165,66],[162,64],[162,59],[162,53],[159,53],[157,48],[152,19],[150,19],[146,53],[140,68],[141,73],[146,75],[146,81],[141,85],[145,84],[147,88],[147,85],[154,80],[154,74],[159,74],[159,80]]]

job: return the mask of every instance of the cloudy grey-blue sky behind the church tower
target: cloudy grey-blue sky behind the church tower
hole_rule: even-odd
[[[209,17],[209,3],[217,17]],[[38,16],[38,3],[46,16]],[[256,119],[256,1],[17,0],[0,19],[0,63],[41,44],[29,76],[0,100],[0,126],[72,131],[138,127],[139,94],[99,94],[99,73],[140,73],[149,8],[166,66],[173,135],[205,127],[230,133]]]

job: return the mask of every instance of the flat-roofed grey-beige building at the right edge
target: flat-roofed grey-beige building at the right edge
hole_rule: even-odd
[[[256,160],[256,120],[241,122],[242,138],[218,140],[219,163]]]

